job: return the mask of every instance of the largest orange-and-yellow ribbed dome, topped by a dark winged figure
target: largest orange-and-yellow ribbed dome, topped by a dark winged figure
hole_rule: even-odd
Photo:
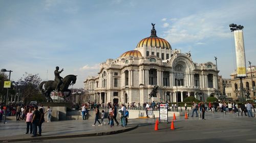
[[[142,39],[138,45],[137,48],[142,47],[143,45],[146,46],[151,46],[151,47],[157,47],[157,48],[162,48],[162,49],[172,49],[170,46],[169,42],[167,42],[163,38],[157,37],[157,31],[155,30],[155,24],[152,23],[152,30],[151,30],[151,36]]]

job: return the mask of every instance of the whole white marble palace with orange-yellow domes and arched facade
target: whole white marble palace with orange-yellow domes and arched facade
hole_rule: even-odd
[[[153,101],[183,102],[189,96],[201,101],[210,96],[218,98],[216,64],[194,63],[190,51],[183,53],[158,37],[155,24],[152,23],[150,37],[134,45],[118,58],[101,63],[97,76],[84,80],[84,101],[141,105]],[[154,88],[157,94],[151,97]]]

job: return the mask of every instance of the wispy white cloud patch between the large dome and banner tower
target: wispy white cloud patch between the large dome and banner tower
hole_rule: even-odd
[[[226,17],[218,12],[189,15],[176,19],[164,32],[163,37],[172,43],[189,43],[210,38],[228,38],[226,27],[222,26]],[[214,24],[213,24],[214,23]],[[225,23],[226,24],[226,23]],[[218,25],[218,26],[217,26]]]

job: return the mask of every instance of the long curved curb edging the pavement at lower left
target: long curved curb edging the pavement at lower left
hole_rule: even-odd
[[[59,139],[59,138],[111,135],[111,134],[118,134],[118,133],[123,133],[123,132],[131,131],[131,130],[136,129],[138,126],[139,125],[136,125],[136,126],[131,127],[131,128],[125,128],[125,129],[122,129],[122,130],[106,131],[106,132],[100,132],[100,133],[73,134],[73,135],[60,135],[60,136],[46,136],[46,137],[35,137],[35,138],[4,139],[4,140],[0,140],[0,142],[15,142],[15,141],[38,142],[38,141],[42,141],[43,139]]]

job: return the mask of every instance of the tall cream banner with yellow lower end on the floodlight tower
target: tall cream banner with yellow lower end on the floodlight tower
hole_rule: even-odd
[[[244,36],[242,30],[234,31],[234,43],[236,45],[237,56],[237,76],[246,77],[246,62],[244,51]]]

